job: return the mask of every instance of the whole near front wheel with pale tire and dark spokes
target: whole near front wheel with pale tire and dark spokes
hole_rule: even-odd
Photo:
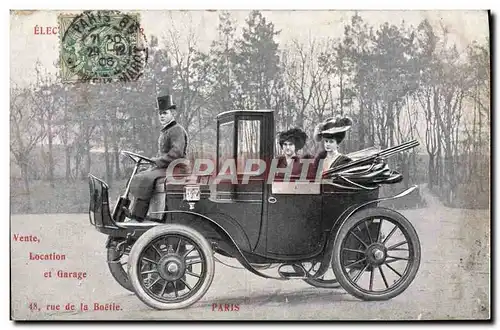
[[[132,247],[129,278],[137,296],[156,309],[185,308],[198,301],[214,277],[208,241],[183,225],[156,226]]]

